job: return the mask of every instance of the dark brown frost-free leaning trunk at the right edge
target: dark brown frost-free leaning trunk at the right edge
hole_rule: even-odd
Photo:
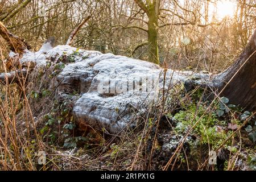
[[[247,46],[224,77],[221,95],[232,104],[256,110],[256,30]]]

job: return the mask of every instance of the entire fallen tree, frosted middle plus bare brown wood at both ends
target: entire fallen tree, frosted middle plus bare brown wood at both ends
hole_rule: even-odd
[[[56,46],[53,48],[53,39],[43,45],[43,51],[30,52],[28,46],[22,39],[11,34],[0,22],[0,35],[9,44],[13,52],[10,57],[15,57],[15,53],[21,53],[19,57],[20,65],[26,63],[34,64],[33,69],[44,67],[47,60],[56,61],[59,57],[71,55],[76,48],[70,46]],[[221,96],[228,97],[230,102],[246,107],[249,110],[256,110],[256,31],[250,39],[236,62],[222,72],[210,79],[207,74],[181,72],[168,69],[166,81],[164,81],[163,69],[154,63],[148,63],[137,59],[131,59],[125,56],[116,56],[111,53],[102,54],[97,51],[85,51],[79,49],[75,57],[75,63],[65,63],[65,68],[57,76],[59,81],[59,92],[62,96],[72,93],[72,89],[77,89],[80,98],[76,101],[73,112],[76,121],[85,125],[94,126],[101,130],[104,127],[110,133],[118,133],[120,129],[126,126],[133,126],[129,123],[134,116],[134,106],[140,106],[144,101],[151,101],[144,92],[129,93],[121,92],[117,94],[102,94],[97,90],[98,85],[105,78],[115,78],[118,83],[125,82],[126,78],[137,78],[151,75],[158,77],[159,88],[168,84],[174,85],[177,82],[184,82],[200,86],[209,86],[218,89]],[[37,55],[38,59],[34,59]],[[26,68],[16,68],[10,73],[1,73],[0,78],[3,83],[5,79],[14,80],[14,77],[24,72]],[[112,72],[112,69],[116,72]],[[28,70],[26,70],[28,71]],[[33,70],[29,70],[32,72]],[[21,74],[22,75],[22,74]],[[168,79],[169,76],[171,80]],[[189,80],[191,76],[197,80]],[[165,84],[163,84],[165,83]],[[111,86],[111,85],[110,85]],[[189,89],[189,86],[187,86]],[[190,86],[191,88],[191,86]],[[127,91],[127,90],[126,90]],[[118,108],[118,109],[117,109]],[[129,109],[130,108],[130,109]],[[137,107],[138,108],[138,107]],[[143,109],[142,109],[143,110]],[[79,124],[78,123],[78,124]],[[79,124],[80,125],[80,124]]]

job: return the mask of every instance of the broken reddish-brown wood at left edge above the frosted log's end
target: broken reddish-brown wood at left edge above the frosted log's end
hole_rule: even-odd
[[[3,39],[5,39],[11,51],[13,52],[22,55],[26,49],[30,49],[30,46],[28,46],[25,40],[11,34],[2,22],[0,22],[0,35]]]

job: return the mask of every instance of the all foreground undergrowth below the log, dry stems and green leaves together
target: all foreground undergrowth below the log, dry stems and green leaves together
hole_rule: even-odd
[[[26,85],[1,85],[0,169],[255,169],[252,113],[205,89],[172,86],[134,117],[135,129],[119,135],[81,129],[72,113],[79,93],[59,95],[65,59],[73,56],[48,62]],[[45,164],[38,163],[40,151]],[[210,151],[216,165],[208,163]]]

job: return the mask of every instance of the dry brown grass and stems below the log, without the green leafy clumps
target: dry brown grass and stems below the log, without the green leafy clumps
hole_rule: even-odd
[[[1,49],[1,60],[4,60],[7,49]],[[5,64],[3,70],[5,72]],[[206,104],[203,90],[196,100],[196,88],[189,93],[184,92],[182,85],[170,85],[168,90],[162,90],[160,100],[149,105],[146,113],[135,115],[133,121],[137,122],[134,130],[121,131],[118,135],[111,135],[107,131],[96,132],[79,131],[76,128],[65,130],[63,126],[73,121],[72,102],[65,103],[57,96],[57,81],[51,72],[53,66],[47,69],[38,70],[30,75],[25,84],[20,78],[19,84],[1,84],[1,121],[0,121],[0,168],[1,170],[191,170],[207,169],[213,170],[208,164],[208,153],[213,148],[213,143],[200,142],[197,148],[187,147],[187,137],[195,135],[195,128],[202,118],[212,114],[216,110],[216,101],[220,98],[216,93],[214,99]],[[43,90],[47,90],[46,96],[42,96]],[[76,97],[76,94],[74,94]],[[189,111],[189,105],[196,103],[196,110],[191,111],[193,125],[187,132],[180,136],[176,132],[170,114],[175,115],[181,110]],[[61,107],[65,105],[65,107]],[[203,114],[196,119],[199,106],[202,105]],[[63,115],[63,110],[67,109]],[[137,108],[139,109],[139,108]],[[51,114],[57,121],[45,129],[46,115]],[[230,122],[235,121],[237,111],[230,110],[226,118]],[[209,118],[210,119],[210,118]],[[225,151],[227,143],[235,143],[238,148],[236,152],[229,153],[226,158],[227,170],[242,169],[245,161],[243,155],[253,155],[253,144],[246,139],[243,126],[249,121],[247,118],[236,130],[227,134],[227,138],[214,145],[214,150]],[[45,129],[42,132],[42,129]],[[51,138],[52,133],[56,136]],[[202,134],[202,133],[201,133]],[[176,136],[179,144],[166,158],[160,159],[162,155],[160,148],[166,142],[160,138],[164,135]],[[86,139],[77,142],[74,148],[63,147],[64,140],[71,137],[85,137]],[[200,137],[196,136],[200,141]],[[209,139],[210,140],[210,139]],[[246,143],[247,142],[247,143]],[[232,146],[228,144],[228,146]],[[247,147],[246,147],[247,146]],[[246,147],[246,148],[245,148]],[[189,150],[193,150],[190,151]],[[46,152],[46,164],[38,164],[38,152]],[[191,152],[198,152],[198,155],[191,155]],[[242,163],[243,162],[243,163]]]

